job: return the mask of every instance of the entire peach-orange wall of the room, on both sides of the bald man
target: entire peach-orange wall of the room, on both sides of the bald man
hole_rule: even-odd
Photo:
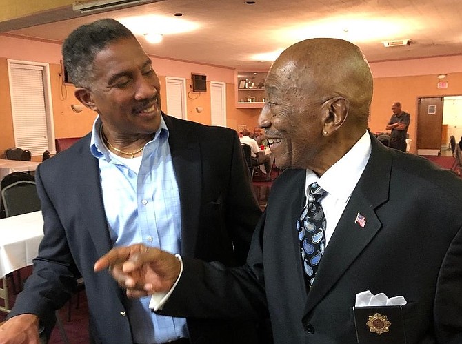
[[[37,61],[50,63],[52,81],[52,99],[54,111],[54,131],[56,137],[82,136],[91,128],[95,114],[83,110],[75,114],[70,110],[70,104],[76,103],[74,87],[61,87],[59,61],[61,59],[61,44],[53,42],[31,41],[0,34],[0,112],[1,135],[0,152],[14,145],[12,130],[10,90],[8,85],[8,69],[6,59]],[[151,57],[154,68],[159,74],[161,84],[165,85],[165,76],[183,77],[190,85],[191,73],[206,74],[208,89],[210,81],[226,83],[227,126],[237,130],[238,125],[245,124],[254,128],[258,123],[261,109],[238,109],[234,101],[234,70],[199,63],[174,61]],[[374,132],[383,131],[390,118],[390,106],[394,101],[401,101],[403,109],[410,112],[410,136],[416,137],[416,99],[418,97],[434,97],[462,94],[462,55],[456,57],[439,57],[432,59],[405,60],[399,62],[371,63],[374,75],[374,98],[371,105],[370,128]],[[437,74],[448,74],[446,81],[449,88],[436,89]],[[187,100],[188,119],[199,123],[210,124],[210,92],[197,94]],[[166,110],[165,89],[161,88],[163,110]],[[202,107],[200,114],[196,107]]]

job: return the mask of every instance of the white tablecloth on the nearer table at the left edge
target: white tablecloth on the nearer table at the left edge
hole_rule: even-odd
[[[42,238],[41,211],[0,219],[0,277],[32,265]]]

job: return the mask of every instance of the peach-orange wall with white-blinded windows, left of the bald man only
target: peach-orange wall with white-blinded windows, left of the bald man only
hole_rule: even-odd
[[[83,136],[91,130],[96,114],[88,109],[84,109],[79,114],[76,114],[70,108],[71,104],[78,103],[78,101],[74,97],[74,86],[71,84],[63,85],[61,81],[61,43],[32,41],[11,37],[8,34],[0,34],[0,77],[4,81],[0,83],[0,101],[3,109],[0,112],[0,123],[2,123],[0,152],[4,152],[7,148],[14,146],[7,59],[37,61],[50,64],[54,134],[56,137]],[[247,117],[246,113],[250,114],[250,121],[254,121],[255,115],[251,109],[242,111],[234,107],[233,69],[185,61],[159,59],[158,57],[151,57],[151,59],[157,74],[159,74],[161,85],[165,85],[165,76],[183,77],[186,79],[187,85],[190,85],[191,73],[207,75],[208,90],[210,90],[210,81],[225,82],[229,122],[234,124],[245,121]],[[191,94],[187,99],[188,119],[203,124],[210,124],[210,92],[203,92],[200,97],[193,99],[197,95]],[[165,88],[161,88],[162,110],[168,112],[165,99]],[[202,107],[203,112],[200,114],[197,113],[195,110],[196,107]]]

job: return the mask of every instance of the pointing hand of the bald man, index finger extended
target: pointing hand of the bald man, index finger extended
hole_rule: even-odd
[[[168,292],[178,279],[181,263],[173,254],[136,244],[114,247],[94,263],[94,271],[106,267],[127,296],[140,297]]]

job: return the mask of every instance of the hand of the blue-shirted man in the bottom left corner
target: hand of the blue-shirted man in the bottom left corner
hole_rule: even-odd
[[[0,344],[39,343],[39,317],[34,314],[13,316],[0,327]]]

